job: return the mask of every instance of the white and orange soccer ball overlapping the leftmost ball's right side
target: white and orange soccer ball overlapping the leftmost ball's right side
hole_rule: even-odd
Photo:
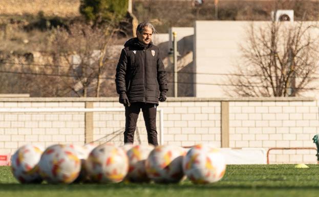
[[[39,162],[40,175],[48,183],[72,183],[80,169],[81,162],[73,145],[49,146]]]

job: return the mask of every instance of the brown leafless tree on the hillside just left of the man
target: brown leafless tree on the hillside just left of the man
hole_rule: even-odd
[[[79,97],[100,96],[101,83],[108,79],[107,68],[116,62],[116,55],[108,53],[116,31],[111,25],[100,28],[85,24],[57,30],[53,62],[59,65],[57,75],[65,84],[63,89],[69,89]],[[73,78],[63,78],[65,75]]]

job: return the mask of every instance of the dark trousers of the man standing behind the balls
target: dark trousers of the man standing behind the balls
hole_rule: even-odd
[[[134,133],[140,110],[142,109],[147,131],[148,144],[158,145],[156,131],[156,104],[133,102],[130,106],[125,106],[125,132],[124,143],[134,142]]]

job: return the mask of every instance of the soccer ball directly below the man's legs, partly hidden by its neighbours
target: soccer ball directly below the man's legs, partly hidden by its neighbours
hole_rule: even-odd
[[[129,157],[129,173],[127,173],[126,179],[131,182],[149,182],[145,170],[145,160],[150,152],[154,149],[152,145],[137,145],[126,152]]]

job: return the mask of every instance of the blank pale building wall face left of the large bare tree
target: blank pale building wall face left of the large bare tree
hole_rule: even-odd
[[[195,68],[196,96],[223,97],[226,82],[239,57],[239,44],[245,35],[247,21],[196,21]]]

